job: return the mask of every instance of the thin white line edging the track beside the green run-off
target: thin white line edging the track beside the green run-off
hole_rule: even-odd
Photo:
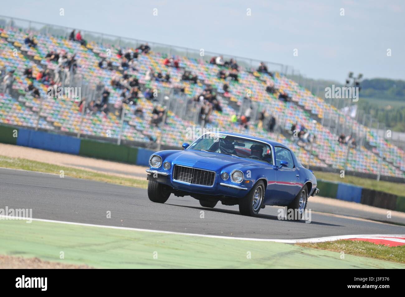
[[[285,244],[315,243],[315,242],[335,241],[335,240],[339,240],[339,239],[349,239],[349,238],[405,237],[404,234],[401,234],[401,235],[398,235],[398,234],[362,234],[362,235],[327,236],[327,237],[304,238],[304,239],[266,239],[266,238],[232,237],[232,236],[207,235],[207,234],[196,234],[196,233],[182,233],[182,232],[173,232],[173,231],[160,231],[160,230],[151,230],[151,229],[139,229],[139,228],[130,228],[130,227],[85,224],[85,223],[77,223],[77,222],[64,222],[64,221],[15,217],[15,216],[4,216],[4,215],[0,215],[0,220],[32,220],[32,221],[37,221],[37,222],[69,224],[69,225],[98,227],[98,228],[107,228],[107,229],[131,230],[131,231],[141,231],[141,232],[151,232],[151,233],[187,235],[187,236],[195,236],[195,237],[208,237],[208,238],[220,238],[220,239],[236,239],[236,240],[247,240],[247,241],[271,241],[271,242],[281,242],[281,243],[285,243]]]

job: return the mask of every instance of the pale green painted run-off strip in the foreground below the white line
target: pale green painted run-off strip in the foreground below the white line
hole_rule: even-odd
[[[119,218],[104,218],[117,224]],[[119,224],[122,224],[120,222]],[[125,224],[125,223],[124,223]],[[278,242],[0,220],[0,254],[95,268],[399,268],[405,265]],[[60,252],[64,259],[60,259]]]

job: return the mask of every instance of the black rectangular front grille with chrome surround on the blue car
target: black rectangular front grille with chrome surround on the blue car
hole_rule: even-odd
[[[173,179],[194,185],[212,186],[214,184],[215,172],[175,165]]]

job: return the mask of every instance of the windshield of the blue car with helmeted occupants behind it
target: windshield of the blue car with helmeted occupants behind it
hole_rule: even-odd
[[[271,147],[266,143],[230,135],[208,133],[197,139],[188,150],[203,150],[267,162],[273,165]]]

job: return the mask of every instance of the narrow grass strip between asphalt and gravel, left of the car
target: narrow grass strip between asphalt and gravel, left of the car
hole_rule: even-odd
[[[10,158],[6,156],[0,156],[0,167],[23,169],[29,171],[39,171],[45,173],[55,173],[60,175],[61,170],[64,171],[65,176],[76,177],[82,179],[91,179],[98,182],[106,182],[110,184],[117,184],[122,186],[131,186],[136,188],[147,188],[147,180],[134,179],[129,177],[120,177],[115,175],[108,175],[104,173],[98,173],[93,171],[87,171],[83,169],[77,169],[66,166],[59,166],[48,164],[44,162],[37,162],[22,158]]]

